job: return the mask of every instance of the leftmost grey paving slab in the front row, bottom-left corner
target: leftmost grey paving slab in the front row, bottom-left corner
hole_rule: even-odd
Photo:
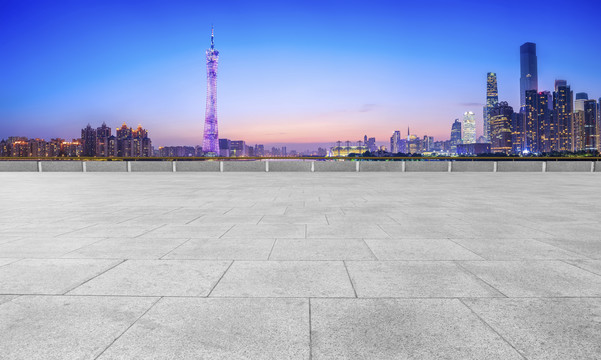
[[[5,359],[94,359],[153,298],[21,296],[0,306]]]

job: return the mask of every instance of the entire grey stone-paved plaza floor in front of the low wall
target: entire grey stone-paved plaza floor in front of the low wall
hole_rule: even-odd
[[[601,174],[1,173],[6,359],[599,359]]]

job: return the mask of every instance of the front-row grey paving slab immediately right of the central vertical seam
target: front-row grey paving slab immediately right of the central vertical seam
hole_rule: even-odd
[[[312,299],[312,358],[522,359],[454,299]]]

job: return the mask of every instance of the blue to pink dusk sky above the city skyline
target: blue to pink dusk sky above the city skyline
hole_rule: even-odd
[[[0,139],[88,123],[202,143],[211,25],[219,137],[304,150],[394,130],[436,140],[476,113],[486,73],[519,106],[519,46],[539,90],[601,97],[601,2],[0,0]]]

